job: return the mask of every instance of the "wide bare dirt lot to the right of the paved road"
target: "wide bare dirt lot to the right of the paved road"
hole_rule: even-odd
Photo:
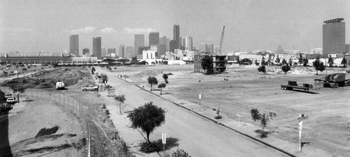
[[[169,84],[163,91],[174,96],[174,99],[200,104],[200,113],[204,115],[214,117],[216,111],[212,109],[220,107],[223,113],[220,121],[242,132],[258,136],[254,130],[259,129],[260,125],[251,120],[250,109],[256,107],[261,112],[274,111],[277,118],[267,127],[272,134],[263,140],[278,144],[297,156],[305,156],[307,151],[316,149],[328,152],[324,156],[349,156],[347,126],[350,121],[350,87],[333,89],[316,86],[318,90],[310,90],[310,93],[280,89],[288,81],[297,81],[299,85],[313,84],[315,78],[324,77],[325,74],[344,73],[345,69],[326,69],[318,72],[319,75],[315,75],[315,71],[304,70],[287,74],[286,77],[284,74],[267,74],[265,77],[257,73],[257,68],[230,67],[228,73],[214,76],[194,74],[193,65],[118,67],[113,69],[113,73],[126,74],[129,76],[127,80],[140,83],[148,89],[147,74],[156,75],[158,82],[164,82],[162,72],[172,73],[174,75],[169,76]],[[223,81],[224,78],[228,78],[228,81]],[[346,78],[349,79],[350,75]],[[199,94],[202,94],[202,100],[198,99]],[[288,148],[290,144],[297,146],[298,143],[299,114],[309,116],[303,121],[302,130],[302,142],[309,143],[304,145],[301,153],[297,147]]]

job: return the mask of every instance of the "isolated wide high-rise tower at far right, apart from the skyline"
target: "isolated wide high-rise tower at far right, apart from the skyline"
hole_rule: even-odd
[[[345,52],[344,18],[336,18],[323,22],[323,54]]]

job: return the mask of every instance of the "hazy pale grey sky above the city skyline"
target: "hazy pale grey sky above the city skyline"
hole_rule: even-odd
[[[350,43],[349,0],[1,0],[0,53],[69,50],[69,34],[79,34],[79,51],[92,50],[92,37],[102,47],[134,46],[134,34],[160,32],[173,38],[193,36],[223,50],[309,51],[322,47],[324,20],[344,18]]]

